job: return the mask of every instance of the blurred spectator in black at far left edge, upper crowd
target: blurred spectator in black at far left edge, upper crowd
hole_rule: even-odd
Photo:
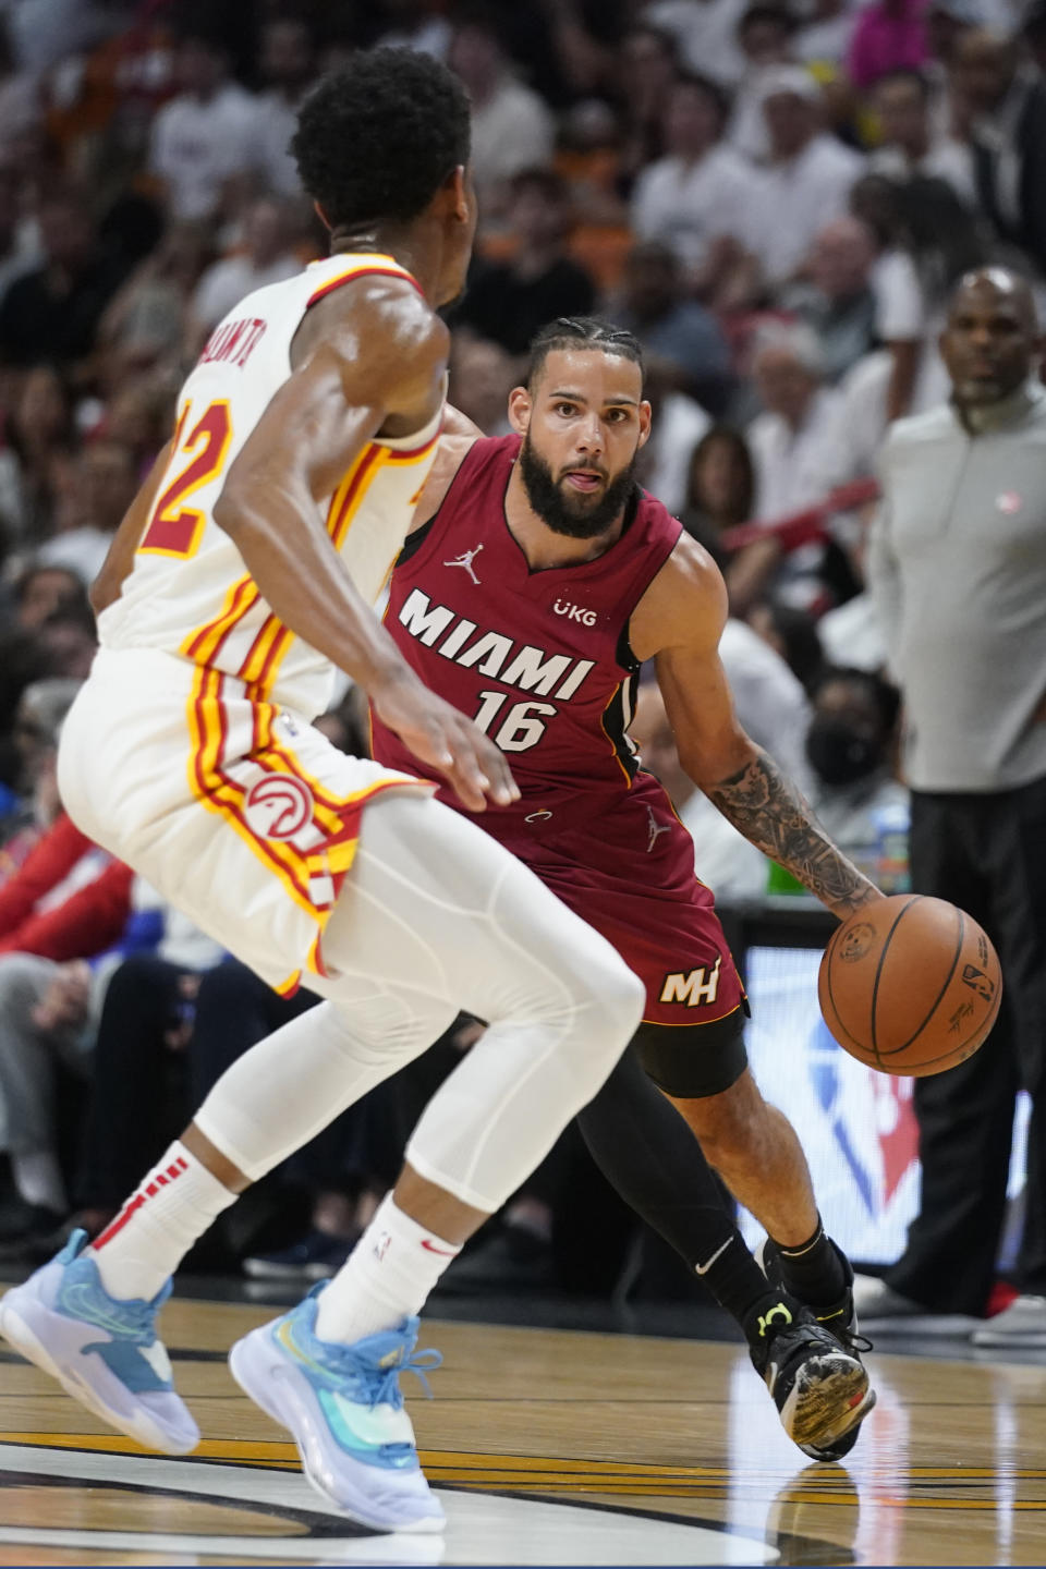
[[[13,366],[61,361],[75,380],[86,370],[102,312],[127,264],[105,254],[75,191],[44,191],[38,223],[42,262],[0,301],[0,358]]]

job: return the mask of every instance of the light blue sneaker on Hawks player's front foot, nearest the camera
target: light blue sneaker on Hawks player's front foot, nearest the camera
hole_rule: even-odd
[[[234,1379],[293,1434],[306,1476],[336,1508],[376,1531],[442,1531],[400,1392],[400,1373],[416,1373],[428,1390],[425,1370],[442,1357],[411,1354],[417,1318],[350,1346],[317,1340],[315,1318],[314,1291],[237,1340]]]

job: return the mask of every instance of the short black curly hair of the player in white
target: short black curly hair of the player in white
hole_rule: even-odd
[[[469,162],[469,99],[431,55],[361,52],[309,93],[290,151],[332,228],[409,223]]]

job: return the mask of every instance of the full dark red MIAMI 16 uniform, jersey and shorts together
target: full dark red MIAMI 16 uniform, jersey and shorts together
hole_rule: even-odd
[[[743,1006],[740,979],[693,841],[627,737],[640,670],[629,620],[681,524],[637,490],[604,555],[532,571],[505,519],[518,452],[519,436],[474,442],[400,552],[386,626],[508,756],[522,799],[474,821],[618,949],[646,985],[648,1021],[715,1023]],[[376,717],[372,742],[376,761],[427,774]]]

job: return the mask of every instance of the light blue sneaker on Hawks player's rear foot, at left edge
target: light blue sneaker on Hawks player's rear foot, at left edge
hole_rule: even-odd
[[[188,1454],[199,1428],[174,1393],[155,1329],[171,1282],[152,1302],[119,1301],[83,1250],[86,1240],[74,1232],[49,1265],[3,1296],[0,1334],[96,1417],[149,1450]]]

